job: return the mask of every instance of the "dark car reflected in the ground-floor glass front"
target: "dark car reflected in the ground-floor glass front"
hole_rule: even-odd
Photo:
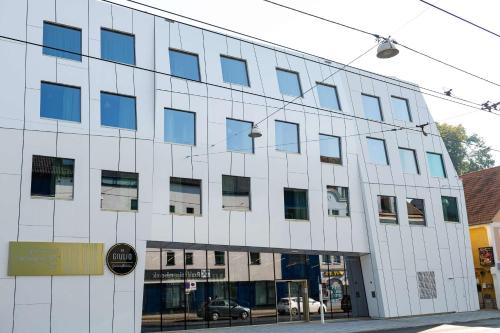
[[[217,320],[219,318],[241,318],[243,320],[248,318],[250,313],[249,308],[245,308],[235,301],[218,298],[205,303],[197,311],[197,315],[205,320]]]

